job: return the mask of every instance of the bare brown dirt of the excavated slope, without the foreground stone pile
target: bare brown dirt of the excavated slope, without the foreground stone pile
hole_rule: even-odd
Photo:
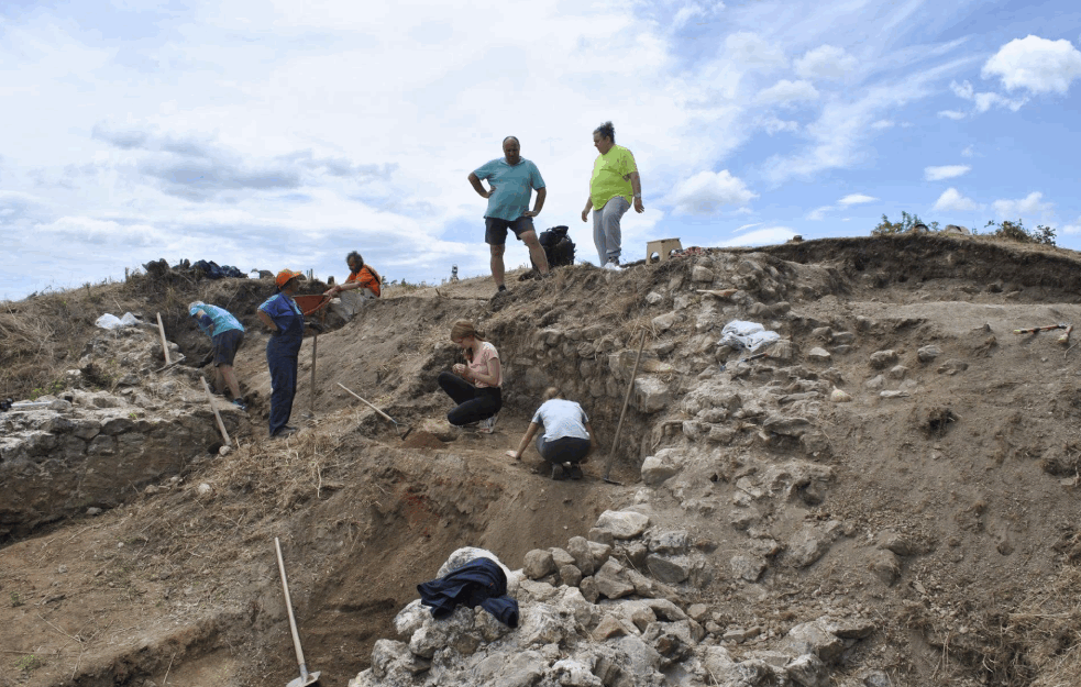
[[[1078,350],[1057,344],[1060,332],[1012,332],[1081,325],[1079,266],[1067,251],[897,236],[716,251],[619,274],[564,268],[495,301],[487,280],[390,290],[320,335],[313,403],[305,343],[295,406],[305,429],[275,442],[264,437],[265,337],[250,326],[236,367],[252,423],[238,451],[0,550],[0,685],[287,683],[296,666],[274,536],[308,664],[324,684],[345,685],[453,550],[482,546],[520,566],[528,551],[563,546],[602,511],[635,503],[712,543],[708,574],[683,594],[725,628],[780,636],[830,609],[875,617],[838,684],[860,684],[846,680],[868,666],[895,685],[1067,684],[1055,680],[1081,665],[1069,601],[1081,591]],[[265,297],[258,286],[145,288],[142,309],[228,300],[254,324],[241,308]],[[739,291],[701,292],[725,287]],[[84,296],[92,302],[78,291],[69,299]],[[434,377],[456,361],[448,333],[459,318],[487,331],[507,370],[490,436],[442,421],[449,405]],[[716,346],[731,319],[776,330],[792,359],[736,363],[739,352]],[[206,350],[183,317],[167,329],[190,358]],[[602,483],[599,461],[586,480],[554,483],[536,453],[521,463],[503,455],[549,384],[581,400],[610,445],[643,329],[642,375],[666,403],[649,409],[649,394],[636,394],[613,469],[626,486]],[[924,361],[927,346],[938,355]],[[339,383],[412,425],[409,439]],[[706,384],[743,395],[742,415],[702,424],[686,399]],[[830,402],[835,387],[851,402]],[[824,443],[769,430],[763,419],[780,417],[806,420]],[[642,461],[663,448],[694,455],[694,466],[647,488]],[[832,477],[755,499],[759,520],[735,523],[729,511],[751,484],[741,480],[793,459]],[[802,565],[798,532],[830,522],[837,539]],[[730,567],[748,532],[781,543],[754,581]],[[883,562],[890,533],[903,553]]]

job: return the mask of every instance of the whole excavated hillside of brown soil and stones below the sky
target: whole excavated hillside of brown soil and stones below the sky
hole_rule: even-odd
[[[275,441],[265,280],[157,270],[9,303],[5,394],[56,405],[36,424],[0,415],[35,442],[4,437],[0,484],[74,496],[36,501],[0,549],[0,685],[288,683],[275,536],[324,685],[1072,684],[1078,352],[1067,330],[1014,332],[1081,324],[1079,266],[901,235],[562,267],[494,299],[483,279],[388,288],[321,334],[317,359],[305,343],[301,431]],[[196,299],[249,329],[250,408],[224,455],[206,445]],[[159,369],[153,330],[96,340],[99,314],[128,310],[161,312],[185,363]],[[444,419],[435,376],[459,361],[457,319],[500,353],[493,434]],[[744,350],[722,335],[735,321],[775,341]],[[88,355],[101,374],[66,374]],[[598,435],[583,480],[553,481],[532,448],[505,455],[548,386]],[[91,406],[155,439],[107,434],[112,453],[91,455],[95,437],[66,439]],[[172,429],[156,420],[169,412]],[[602,481],[609,467],[621,484]],[[79,502],[71,475],[114,489]],[[418,606],[463,547],[511,570],[518,628]]]

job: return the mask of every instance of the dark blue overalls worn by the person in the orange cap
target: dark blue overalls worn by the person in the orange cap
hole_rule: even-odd
[[[304,339],[304,315],[291,298],[278,293],[260,306],[278,331],[266,342],[266,364],[271,368],[271,436],[289,422],[293,398],[297,394],[297,367]]]

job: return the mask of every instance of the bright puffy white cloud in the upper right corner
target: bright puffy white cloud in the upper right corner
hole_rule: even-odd
[[[1006,90],[1065,96],[1081,78],[1081,51],[1069,41],[1028,35],[1006,43],[983,65],[985,79],[999,77]]]

